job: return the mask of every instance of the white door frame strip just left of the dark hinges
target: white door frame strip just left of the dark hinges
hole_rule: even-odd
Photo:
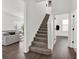
[[[74,46],[74,26],[73,26],[73,14],[69,14],[69,31],[68,31],[68,47],[73,47]]]

